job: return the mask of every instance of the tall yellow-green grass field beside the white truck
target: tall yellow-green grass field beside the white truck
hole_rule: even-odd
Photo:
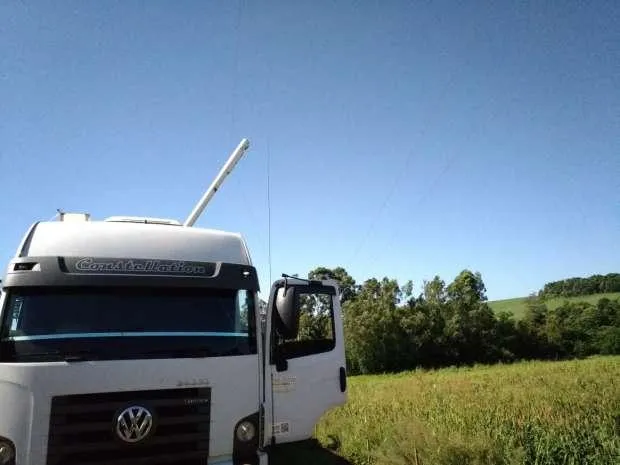
[[[620,464],[620,357],[350,378],[316,436],[354,464]]]

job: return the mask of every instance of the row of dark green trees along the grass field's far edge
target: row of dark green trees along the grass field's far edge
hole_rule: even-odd
[[[342,267],[319,267],[308,278],[335,279],[341,287],[352,374],[620,354],[620,299],[549,309],[532,296],[517,321],[493,312],[482,276],[470,270],[448,284],[435,276],[418,295],[411,281],[401,285],[385,277],[357,284]],[[330,337],[324,313],[305,312],[300,334]]]

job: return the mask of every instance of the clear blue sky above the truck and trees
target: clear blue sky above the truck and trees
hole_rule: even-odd
[[[619,271],[620,3],[0,5],[0,259],[57,208],[184,219],[271,270]],[[269,162],[269,163],[268,163]]]

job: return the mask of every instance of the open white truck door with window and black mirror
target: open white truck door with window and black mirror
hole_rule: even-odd
[[[320,417],[346,401],[344,334],[338,285],[285,277],[269,303],[267,376],[271,441],[309,439]]]

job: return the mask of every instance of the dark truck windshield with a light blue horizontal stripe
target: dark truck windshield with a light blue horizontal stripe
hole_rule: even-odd
[[[244,290],[21,288],[5,308],[3,361],[256,353],[254,299]]]

